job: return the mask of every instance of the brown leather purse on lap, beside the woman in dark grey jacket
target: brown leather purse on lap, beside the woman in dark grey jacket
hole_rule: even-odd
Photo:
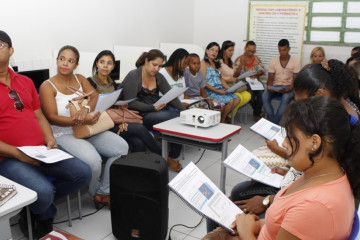
[[[109,108],[106,112],[116,124],[143,123],[142,117],[138,115],[138,111],[129,110],[126,107]]]

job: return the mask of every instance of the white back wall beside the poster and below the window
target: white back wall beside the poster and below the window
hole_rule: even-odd
[[[223,41],[232,40],[236,43],[234,57],[241,55],[247,40],[248,14],[249,0],[194,0],[194,43],[206,48],[212,41],[221,46]],[[304,44],[303,65],[309,62],[310,52],[316,46],[319,45]],[[349,46],[320,46],[325,49],[327,59],[336,58],[343,62],[350,57],[352,49]]]

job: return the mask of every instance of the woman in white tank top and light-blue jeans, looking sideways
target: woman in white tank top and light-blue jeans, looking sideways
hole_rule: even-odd
[[[96,206],[105,204],[110,207],[109,168],[113,161],[126,155],[128,145],[124,139],[110,131],[105,131],[86,139],[74,137],[72,126],[95,123],[100,113],[93,113],[98,93],[80,74],[74,74],[79,64],[79,51],[73,46],[64,46],[57,56],[58,73],[40,86],[41,107],[45,116],[52,124],[56,141],[71,155],[87,163],[92,170],[89,193],[94,196]],[[73,87],[85,93],[90,93],[87,108],[78,111],[70,117],[67,108],[69,100],[78,97],[68,89]],[[101,176],[102,159],[107,157],[105,169]]]

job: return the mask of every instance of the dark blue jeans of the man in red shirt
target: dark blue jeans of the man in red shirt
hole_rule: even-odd
[[[60,147],[60,146],[59,146]],[[0,175],[37,193],[30,210],[37,220],[54,218],[54,201],[85,187],[91,178],[89,166],[77,158],[34,166],[15,158],[0,161]],[[49,178],[55,178],[50,181]]]

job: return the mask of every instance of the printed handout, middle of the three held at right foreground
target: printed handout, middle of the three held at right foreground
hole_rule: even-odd
[[[271,169],[256,158],[249,150],[239,144],[225,159],[225,166],[272,187],[280,188],[284,176],[271,173]]]

